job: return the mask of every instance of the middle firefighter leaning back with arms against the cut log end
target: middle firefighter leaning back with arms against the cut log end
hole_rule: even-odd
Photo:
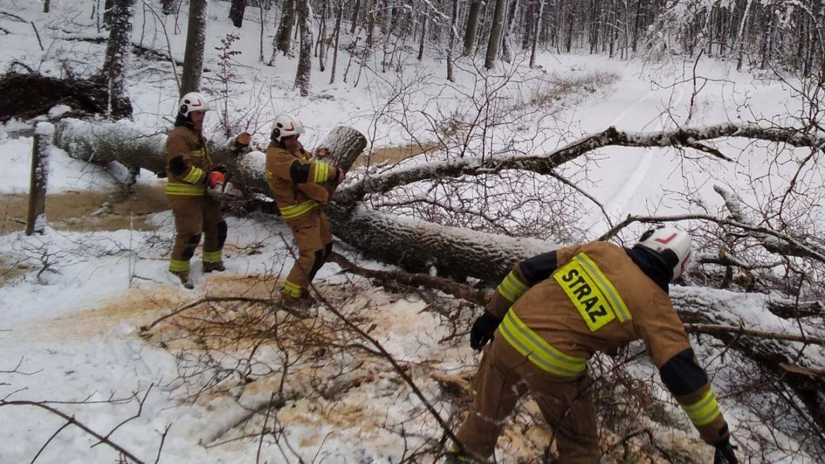
[[[332,252],[332,234],[323,214],[329,192],[319,184],[329,180],[340,183],[346,174],[323,161],[310,161],[298,140],[303,133],[304,125],[297,118],[282,114],[272,123],[271,143],[266,149],[266,181],[299,251],[281,289],[287,305],[308,301],[304,298],[309,282]]]

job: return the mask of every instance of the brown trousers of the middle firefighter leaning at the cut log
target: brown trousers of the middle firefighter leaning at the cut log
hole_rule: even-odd
[[[286,276],[281,292],[291,298],[300,298],[323,263],[327,262],[332,252],[332,234],[323,211],[309,211],[287,220],[286,224],[298,245],[298,260]]]

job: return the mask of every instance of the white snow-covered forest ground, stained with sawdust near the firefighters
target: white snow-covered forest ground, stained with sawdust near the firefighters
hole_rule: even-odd
[[[105,45],[63,40],[101,36],[96,19],[90,19],[94,3],[53,0],[52,13],[45,15],[38,2],[0,0],[0,10],[33,21],[45,45],[45,51],[41,51],[27,22],[0,15],[0,26],[12,33],[4,40],[14,39],[12,46],[7,41],[0,47],[2,68],[17,60],[40,72],[60,75],[60,60],[68,59],[68,65],[79,75],[99,69]],[[158,9],[157,5],[149,7]],[[186,12],[177,19],[165,17],[162,26],[149,7],[138,7],[133,41],[163,50],[168,35],[172,54],[182,59],[185,35],[175,33],[175,22],[185,28]],[[222,101],[214,47],[227,34],[237,32],[227,19],[228,8],[228,2],[210,2],[205,59],[210,72],[205,73],[204,87],[216,107]],[[404,59],[400,75],[380,72],[379,52],[367,62],[368,68],[361,72],[355,87],[358,64],[353,64],[348,82],[343,83],[341,74],[349,54],[342,52],[337,83],[329,85],[328,72],[318,73],[315,67],[313,92],[309,97],[299,97],[292,88],[295,59],[278,56],[272,67],[258,63],[256,21],[257,9],[247,8],[241,37],[235,43],[243,53],[236,57],[237,77],[233,78],[226,103],[237,109],[252,109],[247,119],[233,116],[235,120],[230,122],[235,129],[250,130],[253,141],[259,144],[266,140],[271,120],[282,111],[301,117],[308,128],[304,144],[309,147],[335,125],[361,130],[373,148],[413,140],[432,141],[432,121],[450,114],[471,114],[474,106],[465,96],[479,96],[479,88],[483,88],[474,67],[461,62],[457,82],[446,85],[444,62],[435,50],[429,50],[422,63],[414,57]],[[274,18],[267,17],[266,21],[271,24]],[[266,31],[267,37],[273,32]],[[266,59],[270,53],[267,48]],[[504,74],[515,69],[526,76],[524,83],[513,83],[502,90],[506,97],[499,102],[502,107],[524,100],[530,92],[552,88],[563,79],[576,80],[592,73],[612,73],[617,78],[603,87],[578,88],[563,96],[554,106],[552,120],[548,119],[549,110],[539,109],[517,124],[496,127],[493,140],[499,148],[512,142],[515,149],[526,152],[549,152],[609,125],[620,130],[655,131],[684,124],[689,113],[691,125],[709,125],[771,119],[794,109],[787,89],[780,84],[757,80],[714,61],[700,62],[697,73],[709,80],[695,98],[691,97],[695,85],[692,63],[642,64],[543,53],[538,64],[541,68],[533,70],[527,69],[524,62],[502,68]],[[407,88],[402,97],[390,99],[401,87]],[[134,59],[129,93],[135,122],[156,130],[167,129],[177,96],[167,63]],[[210,113],[208,130],[218,130],[218,113]],[[0,127],[0,172],[4,174],[0,195],[25,193],[29,188],[31,138],[15,132],[20,126],[17,121]],[[689,159],[667,148],[608,148],[588,155],[586,170],[577,163],[565,166],[562,172],[580,182],[604,204],[611,220],[616,220],[630,213],[683,212],[686,203],[681,192],[686,191],[695,192],[709,211],[715,211],[722,204],[712,189],[716,182],[755,202],[764,192],[752,192],[752,178],[771,173],[776,179],[771,188],[780,189],[786,183],[781,176],[794,169],[790,163],[771,165],[767,144],[724,140],[715,146],[736,162]],[[116,187],[115,178],[106,169],[68,158],[60,149],[51,152],[50,193],[110,191]],[[162,187],[164,181],[144,172],[139,182],[145,187]],[[580,213],[570,219],[579,221],[588,238],[608,229],[596,207]],[[139,400],[144,400],[139,417],[111,435],[113,442],[144,462],[155,461],[162,441],[159,462],[216,463],[299,462],[298,457],[303,462],[398,462],[407,457],[405,452],[427,444],[426,438],[437,430],[435,421],[422,412],[420,401],[407,388],[399,386],[398,376],[387,363],[367,356],[359,364],[332,348],[336,356],[324,359],[314,375],[298,376],[299,380],[288,385],[290,399],[280,411],[272,411],[269,427],[274,426],[275,419],[284,427],[277,443],[271,437],[260,437],[264,428],[260,414],[246,425],[232,427],[245,417],[247,409],[258,408],[270,399],[277,388],[271,382],[253,381],[243,394],[234,397],[233,392],[238,391],[204,395],[194,404],[182,400],[188,388],[179,381],[180,355],[185,350],[170,346],[164,337],[183,329],[166,324],[158,333],[141,337],[139,327],[201,297],[263,298],[277,291],[277,274],[292,262],[281,239],[281,235],[288,238],[289,233],[280,220],[266,215],[229,217],[225,251],[228,272],[200,275],[196,258],[196,289],[189,292],[166,271],[174,233],[171,212],[152,215],[150,221],[157,225],[156,230],[73,232],[50,228],[46,234],[32,237],[0,235],[0,265],[21,262],[31,269],[0,286],[0,397],[13,393],[10,400],[56,402],[51,405],[104,434],[135,414]],[[346,254],[357,258],[351,250]],[[319,272],[317,282],[336,306],[359,317],[367,314],[375,324],[370,334],[408,366],[413,380],[436,403],[442,416],[454,412],[430,372],[457,374],[472,370],[478,357],[466,346],[466,336],[458,344],[442,342],[453,335],[450,324],[421,298],[399,300],[369,282],[350,280],[334,264]],[[460,320],[466,323],[464,330],[470,317],[466,312],[461,314]],[[337,327],[337,318],[328,311],[322,310],[318,320],[322,321],[319,324]],[[5,372],[14,370],[18,362],[17,372]],[[722,364],[715,361],[714,368]],[[283,365],[276,357],[271,360],[271,366]],[[633,368],[641,377],[652,375],[643,362]],[[318,377],[326,378],[323,376],[329,376],[330,385],[343,378],[349,388],[325,398],[332,386],[313,383]],[[327,393],[319,394],[319,390]],[[133,393],[136,399],[114,404],[106,401],[129,399]],[[73,404],[83,400],[87,404]],[[747,411],[739,409],[733,400],[723,401],[723,405],[733,412],[734,430],[737,418],[747,419]],[[3,463],[31,461],[65,422],[54,414],[22,405],[0,409],[0,418]],[[244,433],[251,436],[241,438]],[[662,433],[682,443],[697,460],[710,456],[709,448],[695,444],[695,432]],[[792,439],[780,439],[794,447]],[[520,452],[535,451],[516,441],[502,442],[497,453],[502,462],[516,462]],[[68,427],[52,440],[38,462],[115,462],[115,452],[101,445],[91,447],[94,443],[97,440],[88,434]],[[784,458],[785,462],[805,459]]]

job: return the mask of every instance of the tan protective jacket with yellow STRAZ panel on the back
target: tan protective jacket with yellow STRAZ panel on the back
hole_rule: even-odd
[[[581,376],[593,353],[643,340],[702,438],[713,443],[727,435],[670,297],[625,249],[592,242],[530,258],[498,286],[488,311],[503,319],[496,336],[555,376]]]

